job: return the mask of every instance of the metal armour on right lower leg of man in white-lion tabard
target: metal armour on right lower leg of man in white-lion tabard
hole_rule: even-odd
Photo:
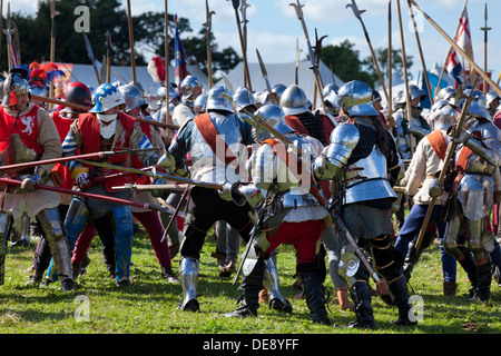
[[[49,244],[59,279],[61,281],[67,278],[72,279],[71,250],[62,230],[59,209],[51,208],[42,210],[37,215],[37,219]]]

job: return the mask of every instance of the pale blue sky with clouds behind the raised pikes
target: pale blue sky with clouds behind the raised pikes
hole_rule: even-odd
[[[57,9],[56,0],[56,9]],[[120,0],[124,9],[127,9],[127,0]],[[164,0],[129,0],[132,14],[139,14],[145,11],[164,12]],[[298,41],[302,59],[307,53],[307,42],[303,31],[302,23],[296,17],[296,12],[291,2],[296,0],[246,0],[247,19],[247,60],[257,62],[256,49],[265,63],[294,62],[296,58],[296,41]],[[354,49],[360,52],[360,58],[371,56],[370,47],[365,39],[361,22],[355,18],[351,8],[346,8],[352,0],[301,0],[304,7],[304,20],[308,31],[311,43],[315,43],[315,29],[318,37],[326,36],[322,41],[323,46],[340,44],[344,40],[350,40],[355,44]],[[3,0],[3,13],[6,16],[7,2]],[[11,0],[11,11],[21,11],[23,13],[33,13],[37,9],[37,0]],[[410,75],[414,79],[422,71],[422,63],[413,31],[412,19],[410,17],[406,0],[357,0],[360,10],[366,10],[362,13],[362,20],[367,30],[373,49],[386,48],[389,44],[389,3],[391,3],[392,13],[392,47],[402,50],[402,37],[400,32],[400,21],[397,3],[400,2],[400,12],[402,18],[402,29],[406,56],[413,57],[413,66]],[[443,31],[451,38],[458,26],[459,17],[465,3],[465,0],[415,0],[424,12],[436,22]],[[240,0],[242,3],[242,0]],[[492,71],[492,78],[498,78],[501,70],[501,23],[494,21],[495,14],[501,11],[501,1],[499,0],[468,0],[466,9],[470,21],[470,31],[473,43],[473,59],[480,68],[484,68],[484,31],[485,27],[485,3],[488,7],[487,26],[491,28],[488,31],[487,59],[488,69]],[[212,17],[212,32],[215,36],[218,49],[233,47],[242,56],[240,42],[236,24],[235,10],[232,1],[228,0],[208,0],[209,9],[215,12]],[[183,33],[183,37],[198,33],[206,21],[205,0],[168,0],[168,12],[177,14],[189,20],[190,27],[195,33]],[[240,20],[243,14],[238,11]],[[414,17],[418,22],[418,33],[421,41],[422,53],[425,67],[430,69],[435,62],[443,65],[445,55],[450,44],[435,30],[435,28],[414,10]],[[77,16],[76,16],[77,18]],[[90,23],[92,30],[92,23]],[[128,33],[124,33],[128,36]],[[163,33],[159,33],[163,36]],[[174,49],[173,49],[174,50]],[[151,56],[161,56],[164,53],[146,55],[147,60]],[[189,55],[189,53],[188,53]],[[336,72],[335,66],[333,68]]]

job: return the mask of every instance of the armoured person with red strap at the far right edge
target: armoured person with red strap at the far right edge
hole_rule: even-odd
[[[501,196],[500,134],[485,107],[477,101],[471,102],[463,128],[454,157],[456,176],[443,245],[466,271],[472,297],[487,301],[492,277],[489,254],[494,240],[485,225]],[[461,237],[468,240],[468,248]]]

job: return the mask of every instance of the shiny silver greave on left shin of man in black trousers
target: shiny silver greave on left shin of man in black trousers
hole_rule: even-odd
[[[197,312],[197,285],[199,276],[199,260],[194,257],[184,257],[179,266],[179,279],[183,287],[184,298],[179,305],[181,310]]]

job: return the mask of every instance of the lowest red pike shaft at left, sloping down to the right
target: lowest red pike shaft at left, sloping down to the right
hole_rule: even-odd
[[[22,185],[22,181],[21,180],[16,180],[16,179],[10,179],[10,178],[0,178],[0,184],[12,185],[12,186],[20,186],[20,185]],[[60,194],[66,194],[66,195],[70,195],[70,196],[84,197],[84,198],[88,198],[88,199],[97,199],[97,200],[104,200],[104,201],[108,201],[108,202],[116,202],[116,204],[121,204],[121,205],[128,205],[128,206],[131,206],[131,207],[137,207],[137,208],[148,209],[148,210],[155,210],[155,211],[159,211],[159,212],[167,212],[167,214],[171,212],[170,209],[167,209],[165,207],[157,206],[157,205],[154,205],[154,204],[137,202],[137,201],[131,201],[131,200],[121,199],[121,198],[102,196],[100,194],[85,192],[85,191],[80,191],[80,190],[72,190],[72,189],[66,189],[66,188],[59,188],[59,187],[51,187],[51,186],[45,186],[45,185],[39,185],[39,184],[35,185],[35,188],[42,189],[42,190],[55,191],[55,192],[60,192]]]

